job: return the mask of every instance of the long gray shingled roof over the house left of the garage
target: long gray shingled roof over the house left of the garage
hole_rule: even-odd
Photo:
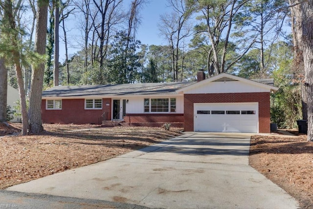
[[[194,82],[56,86],[45,90],[42,95],[43,97],[69,97],[176,94],[176,90],[191,84]]]

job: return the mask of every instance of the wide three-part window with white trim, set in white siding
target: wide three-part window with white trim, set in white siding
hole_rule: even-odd
[[[144,98],[145,113],[176,112],[176,98]]]

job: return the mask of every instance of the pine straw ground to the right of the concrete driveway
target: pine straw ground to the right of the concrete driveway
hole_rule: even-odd
[[[252,136],[249,163],[302,208],[313,209],[313,142],[306,135]]]

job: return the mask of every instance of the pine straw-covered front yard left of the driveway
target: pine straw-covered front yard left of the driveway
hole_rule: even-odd
[[[0,133],[20,132],[14,126],[0,126]],[[44,127],[46,132],[41,135],[0,138],[0,189],[104,161],[180,135],[179,129],[172,128],[170,131],[144,127],[108,129],[73,124]]]

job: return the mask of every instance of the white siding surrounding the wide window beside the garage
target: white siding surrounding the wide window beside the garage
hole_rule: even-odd
[[[176,98],[176,112],[168,112],[168,113],[179,113],[182,114],[184,112],[184,102],[183,95],[166,95],[166,96],[136,96],[136,97],[127,97],[128,103],[126,104],[126,114],[143,114],[144,106],[143,101],[145,98]],[[126,99],[126,98],[125,98]],[[149,113],[147,113],[149,114]],[[157,113],[154,113],[157,114]],[[162,113],[166,114],[166,113]]]

